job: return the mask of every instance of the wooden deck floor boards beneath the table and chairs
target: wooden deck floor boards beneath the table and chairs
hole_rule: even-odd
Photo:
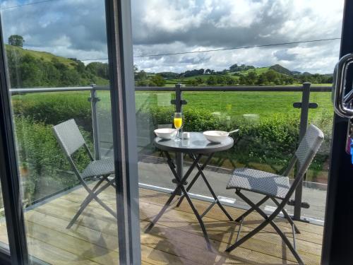
[[[76,189],[25,213],[30,254],[49,264],[118,264],[116,220],[97,203],[92,202],[76,224],[66,229],[85,196],[83,188]],[[142,264],[296,264],[270,227],[230,254],[225,253],[229,242],[234,242],[238,227],[227,221],[217,207],[203,219],[213,252],[207,250],[201,228],[186,201],[165,213],[155,228],[145,234],[148,221],[160,211],[167,196],[140,189]],[[115,207],[113,189],[102,193],[100,198]],[[204,201],[194,201],[200,211],[208,206]],[[227,210],[234,218],[243,212],[230,207]],[[250,215],[244,221],[244,233],[261,221],[257,214]],[[276,223],[289,237],[292,235],[284,219],[279,218]],[[299,254],[306,264],[320,264],[323,227],[297,225],[301,230],[297,235]],[[7,241],[4,225],[0,226],[0,240]]]

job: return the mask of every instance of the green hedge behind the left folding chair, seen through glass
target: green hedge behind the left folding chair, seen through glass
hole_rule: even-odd
[[[71,170],[71,167],[54,137],[52,125],[18,116],[15,125],[20,168],[28,171],[22,176],[28,203],[78,182],[74,175],[64,177],[63,172]],[[83,131],[83,136],[92,146],[89,134]],[[83,149],[75,154],[74,160],[80,170],[89,163]]]

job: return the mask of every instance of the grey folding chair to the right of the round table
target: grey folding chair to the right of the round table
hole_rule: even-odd
[[[296,250],[295,243],[295,232],[300,233],[300,231],[294,224],[292,218],[290,218],[287,211],[285,211],[284,207],[288,203],[295,189],[298,187],[298,184],[301,183],[301,179],[304,177],[306,170],[308,169],[322,142],[323,132],[316,126],[310,125],[306,131],[304,138],[299,143],[299,147],[294,157],[290,161],[289,166],[287,167],[287,170],[285,171],[283,176],[244,167],[237,168],[236,170],[234,170],[232,178],[227,184],[227,189],[236,189],[235,193],[241,199],[243,199],[246,204],[249,204],[251,208],[235,220],[236,222],[240,222],[237,238],[235,243],[226,249],[226,252],[231,252],[236,247],[239,247],[241,244],[246,242],[246,240],[249,240],[249,238],[251,238],[263,228],[265,228],[266,225],[270,224],[273,226],[273,228],[275,228],[276,232],[280,235],[280,237],[282,237],[282,240],[290,249],[299,264],[304,264]],[[297,171],[297,176],[294,178],[292,185],[289,185],[289,178],[287,176],[289,175],[290,170],[292,170],[292,167],[297,161],[299,161],[299,169]],[[243,193],[241,193],[242,189],[258,194],[263,194],[265,195],[265,197],[255,204]],[[260,208],[260,206],[264,204],[265,201],[268,201],[268,199],[271,199],[277,205],[277,208],[275,209],[275,211],[273,211],[273,213],[270,214],[270,216],[268,216]],[[277,199],[282,201],[277,201]],[[254,230],[239,239],[239,234],[244,222],[244,218],[253,211],[258,212],[265,220]],[[292,225],[293,245],[273,221],[281,211],[285,218],[287,218],[289,224]]]

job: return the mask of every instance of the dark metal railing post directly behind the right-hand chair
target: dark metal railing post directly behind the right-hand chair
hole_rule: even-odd
[[[310,86],[311,83],[303,83],[303,93],[301,95],[301,112],[299,125],[299,143],[303,139],[308,128],[309,105],[310,105]],[[297,164],[297,168],[298,168]],[[297,177],[297,176],[296,176]],[[305,177],[305,176],[304,176]],[[301,179],[294,196],[294,220],[301,220],[301,200],[303,195],[303,179]]]

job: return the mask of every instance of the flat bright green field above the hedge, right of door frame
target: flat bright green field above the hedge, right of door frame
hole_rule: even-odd
[[[330,93],[313,92],[311,102],[318,103],[318,108],[310,110],[311,119],[321,119],[323,114],[333,115]],[[148,105],[169,105],[174,93],[136,92],[137,107]],[[260,118],[273,114],[298,114],[294,102],[301,101],[300,92],[184,92],[187,107],[198,107],[210,112],[220,112],[230,117],[241,117],[243,114],[258,114]]]

